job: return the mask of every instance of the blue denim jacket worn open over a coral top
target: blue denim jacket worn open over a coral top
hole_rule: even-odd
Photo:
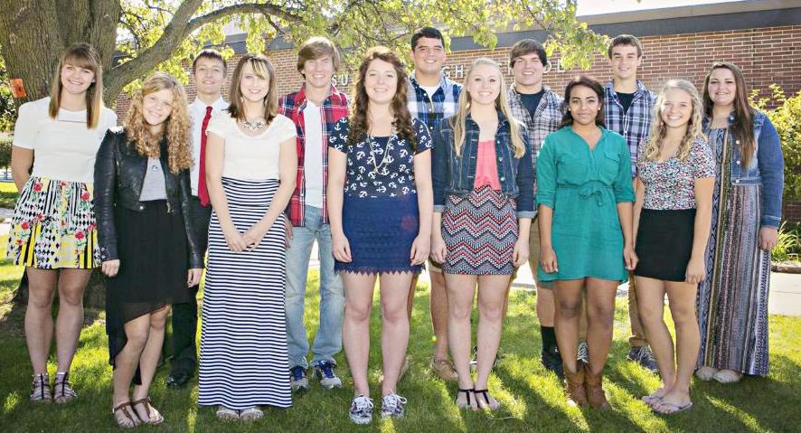
[[[473,191],[476,181],[476,155],[478,153],[478,124],[470,115],[466,118],[465,145],[460,156],[453,151],[453,127],[450,118],[439,122],[434,131],[434,212],[445,212],[448,194],[464,195]],[[524,128],[522,124],[521,128]],[[498,129],[495,132],[495,159],[501,193],[517,199],[517,217],[534,218],[534,167],[532,146],[522,131],[525,155],[514,157],[509,120],[498,111]]]

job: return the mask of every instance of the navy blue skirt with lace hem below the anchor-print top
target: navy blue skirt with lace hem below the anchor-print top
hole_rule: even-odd
[[[417,194],[397,197],[344,196],[342,226],[353,261],[336,261],[337,271],[363,274],[419,273],[411,266],[411,244],[419,231]]]

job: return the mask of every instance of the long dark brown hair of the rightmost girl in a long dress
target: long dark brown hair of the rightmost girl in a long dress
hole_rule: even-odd
[[[731,71],[734,76],[734,84],[737,89],[734,93],[734,121],[731,123],[731,134],[734,140],[740,141],[740,159],[742,166],[747,167],[751,162],[751,157],[754,155],[754,109],[749,105],[748,89],[746,89],[745,79],[742,76],[742,71],[734,63],[728,61],[715,61],[712,63],[711,70],[706,74],[706,79],[703,80],[703,111],[710,118],[712,118],[712,102],[709,96],[709,80],[712,71],[717,69],[727,69]]]

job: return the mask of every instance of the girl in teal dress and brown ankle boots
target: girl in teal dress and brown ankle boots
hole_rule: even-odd
[[[617,285],[636,266],[626,140],[603,127],[603,87],[580,76],[565,89],[560,130],[537,156],[540,281],[554,281],[554,327],[570,404],[607,409],[601,379]],[[581,287],[587,287],[589,365],[576,361]]]

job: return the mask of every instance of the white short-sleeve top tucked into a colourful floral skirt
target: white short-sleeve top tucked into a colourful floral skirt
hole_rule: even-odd
[[[108,128],[117,126],[117,114],[100,111],[98,126],[86,127],[86,110],[60,109],[51,118],[50,97],[26,102],[14,126],[14,146],[33,149],[32,176],[64,182],[94,182],[95,155]]]

